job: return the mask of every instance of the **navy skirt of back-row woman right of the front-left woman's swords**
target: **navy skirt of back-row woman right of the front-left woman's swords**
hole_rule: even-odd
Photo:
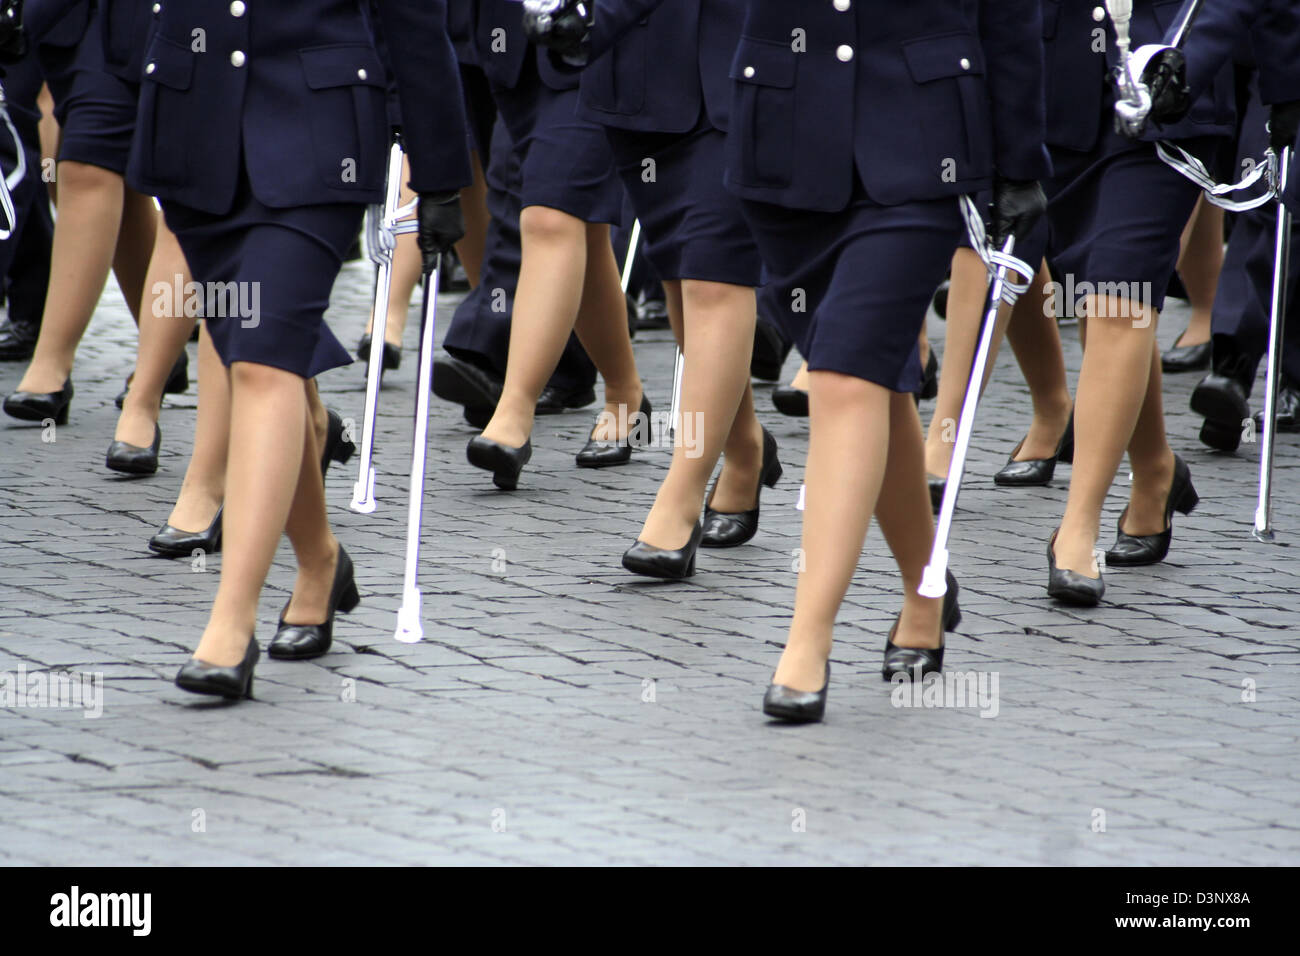
[[[623,186],[604,127],[578,120],[577,88],[550,88],[536,61],[524,57],[512,90],[491,91],[519,156],[521,208],[546,206],[584,222],[619,222]]]

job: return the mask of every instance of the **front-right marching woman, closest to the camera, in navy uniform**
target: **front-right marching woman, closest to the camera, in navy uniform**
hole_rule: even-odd
[[[916,337],[963,232],[958,196],[993,191],[993,237],[1041,211],[1037,0],[750,0],[732,61],[728,186],[809,363],[800,574],[763,698],[819,721],[836,613],[872,514],[902,576],[883,674],[942,666],[957,581],[918,594],[933,540]],[[798,311],[805,304],[806,311]]]

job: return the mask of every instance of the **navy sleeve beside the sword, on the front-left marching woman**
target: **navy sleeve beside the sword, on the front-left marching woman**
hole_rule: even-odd
[[[374,0],[402,104],[411,189],[448,193],[468,186],[469,151],[446,0]]]

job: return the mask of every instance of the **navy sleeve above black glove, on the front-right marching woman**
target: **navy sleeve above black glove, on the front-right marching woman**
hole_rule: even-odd
[[[993,113],[993,163],[1009,179],[1041,179],[1050,172],[1043,75],[1043,8],[1039,0],[980,0],[980,46]]]

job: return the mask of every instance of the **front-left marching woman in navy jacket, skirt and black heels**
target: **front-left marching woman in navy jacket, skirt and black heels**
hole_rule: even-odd
[[[462,234],[456,191],[469,165],[446,9],[441,0],[367,7],[153,8],[130,181],[161,200],[196,282],[230,284],[221,287],[256,303],[252,315],[204,316],[229,373],[231,441],[221,583],[176,678],[195,693],[251,695],[257,600],[282,531],[298,578],[272,657],[325,653],[335,611],[359,600],[325,515],[307,380],[348,362],[322,315],[365,206],[384,196],[390,130],[376,10],[402,113],[420,117],[404,139],[421,250],[432,258]]]

